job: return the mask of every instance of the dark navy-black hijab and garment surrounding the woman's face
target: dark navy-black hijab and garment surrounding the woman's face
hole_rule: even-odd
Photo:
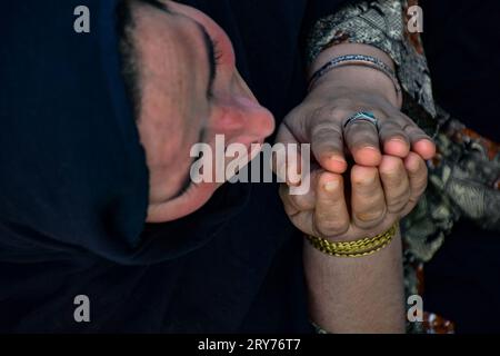
[[[2,4],[0,332],[310,332],[302,239],[276,185],[224,185],[184,219],[143,225],[116,2]],[[343,1],[186,2],[228,31],[279,123],[304,95],[304,29]],[[90,33],[72,30],[80,4]],[[91,323],[73,319],[81,294]]]

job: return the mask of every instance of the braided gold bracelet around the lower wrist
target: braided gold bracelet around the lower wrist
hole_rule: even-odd
[[[306,236],[309,243],[321,253],[337,257],[362,257],[374,254],[388,246],[398,230],[398,222],[386,233],[356,241],[332,243],[326,238]]]

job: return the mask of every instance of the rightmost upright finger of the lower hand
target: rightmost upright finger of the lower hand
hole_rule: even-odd
[[[427,166],[423,159],[414,154],[410,152],[404,159],[404,168],[408,171],[408,178],[410,180],[410,199],[407,207],[403,209],[401,216],[409,214],[419,201],[422,194],[427,188]]]

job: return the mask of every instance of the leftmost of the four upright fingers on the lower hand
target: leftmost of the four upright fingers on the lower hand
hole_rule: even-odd
[[[333,237],[349,229],[349,212],[343,195],[342,176],[323,172],[317,185],[313,214],[316,236]]]

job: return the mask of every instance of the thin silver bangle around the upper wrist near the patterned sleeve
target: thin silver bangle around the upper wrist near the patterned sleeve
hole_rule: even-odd
[[[311,79],[309,80],[309,90],[311,90],[312,86],[318,79],[328,73],[330,70],[347,66],[369,67],[384,73],[387,77],[389,77],[389,79],[391,79],[392,83],[394,85],[399,105],[402,103],[401,86],[399,85],[394,71],[377,57],[364,55],[346,55],[331,59],[312,75]]]

